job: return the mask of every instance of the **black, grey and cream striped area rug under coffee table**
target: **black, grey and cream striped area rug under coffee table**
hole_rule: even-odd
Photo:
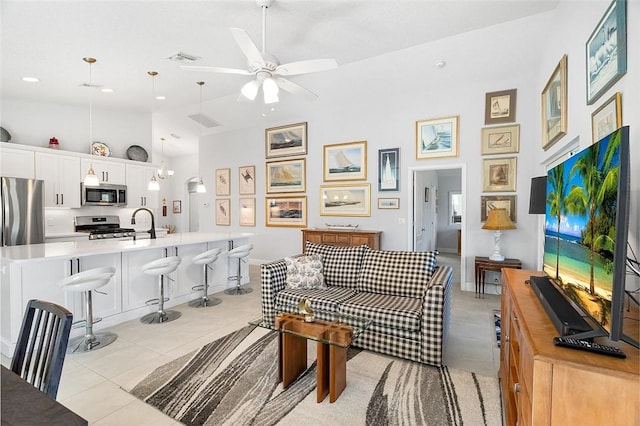
[[[185,425],[502,425],[497,378],[350,349],[347,387],[316,403],[309,368],[277,383],[277,333],[245,327],[165,364],[131,393]]]

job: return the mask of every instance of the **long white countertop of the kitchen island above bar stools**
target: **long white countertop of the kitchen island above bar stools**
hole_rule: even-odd
[[[69,241],[61,243],[28,244],[2,247],[3,262],[29,262],[37,260],[68,259],[97,254],[119,253],[149,248],[164,248],[187,244],[229,241],[253,236],[247,232],[182,232],[169,234],[155,240],[99,240]]]

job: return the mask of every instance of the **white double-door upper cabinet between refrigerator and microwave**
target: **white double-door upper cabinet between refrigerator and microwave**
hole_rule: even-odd
[[[44,180],[46,207],[80,207],[80,158],[35,153],[36,179]]]

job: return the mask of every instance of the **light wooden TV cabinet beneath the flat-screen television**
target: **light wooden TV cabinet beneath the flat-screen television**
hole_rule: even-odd
[[[558,335],[530,286],[538,271],[502,270],[500,378],[506,425],[640,424],[639,350],[599,338],[618,359],[557,347]]]

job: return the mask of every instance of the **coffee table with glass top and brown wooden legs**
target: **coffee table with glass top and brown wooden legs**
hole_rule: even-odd
[[[307,369],[307,341],[317,342],[316,401],[322,402],[327,394],[335,402],[347,386],[347,348],[366,329],[371,321],[333,315],[335,320],[305,321],[296,313],[276,315],[275,324],[262,320],[250,324],[276,330],[278,336],[278,380],[287,388]]]

